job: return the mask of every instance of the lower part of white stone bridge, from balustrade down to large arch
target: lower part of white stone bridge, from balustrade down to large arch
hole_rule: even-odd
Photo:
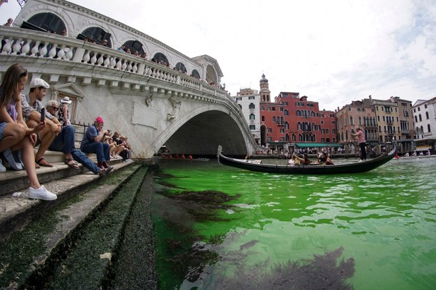
[[[25,8],[16,21],[29,17]],[[228,155],[255,150],[239,106],[219,86],[74,37],[1,26],[0,38],[4,44],[1,74],[13,63],[22,64],[29,71],[23,93],[29,92],[32,78],[45,79],[50,89],[44,101],[63,96],[73,99],[73,123],[92,123],[102,116],[105,128],[128,136],[136,158],[151,158],[163,145],[172,153],[193,155],[216,155],[218,145]],[[216,63],[206,55],[196,61],[204,70]],[[202,66],[197,66],[206,75]]]

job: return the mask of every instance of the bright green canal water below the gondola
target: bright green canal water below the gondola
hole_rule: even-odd
[[[247,285],[278,264],[340,247],[337,264],[354,259],[345,280],[354,289],[435,289],[435,163],[400,158],[366,174],[285,176],[216,160],[160,162],[170,174],[155,179],[153,201],[160,289],[216,289],[241,273]],[[170,198],[205,190],[234,199],[198,217],[195,201]]]

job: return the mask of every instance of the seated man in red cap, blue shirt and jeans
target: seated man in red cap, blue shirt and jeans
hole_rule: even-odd
[[[101,169],[112,170],[113,167],[107,164],[107,161],[110,161],[109,144],[103,143],[105,138],[109,136],[107,130],[103,130],[104,124],[103,118],[98,116],[94,123],[88,127],[87,132],[85,132],[80,144],[80,150],[84,153],[96,153],[97,166]]]

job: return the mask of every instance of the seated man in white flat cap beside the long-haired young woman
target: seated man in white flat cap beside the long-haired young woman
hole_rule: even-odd
[[[30,82],[29,95],[22,96],[22,114],[23,119],[29,128],[35,128],[40,123],[41,109],[44,107],[41,102],[45,96],[45,91],[50,88],[50,85],[45,80],[40,78],[32,79]],[[52,144],[54,137],[61,132],[61,126],[50,120],[45,120],[46,126],[38,133],[40,142],[38,151],[35,155],[35,166],[53,167],[52,164],[43,158],[45,151]]]

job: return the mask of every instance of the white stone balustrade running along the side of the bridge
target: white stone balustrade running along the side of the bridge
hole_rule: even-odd
[[[142,59],[133,54],[87,43],[68,36],[0,26],[0,40],[2,43],[1,55],[30,58],[43,57],[57,59],[58,61],[88,63],[91,66],[123,70],[128,73],[144,75],[144,77],[172,82],[179,86],[186,86],[213,96],[229,98],[226,91],[195,77],[190,77],[185,73]]]

